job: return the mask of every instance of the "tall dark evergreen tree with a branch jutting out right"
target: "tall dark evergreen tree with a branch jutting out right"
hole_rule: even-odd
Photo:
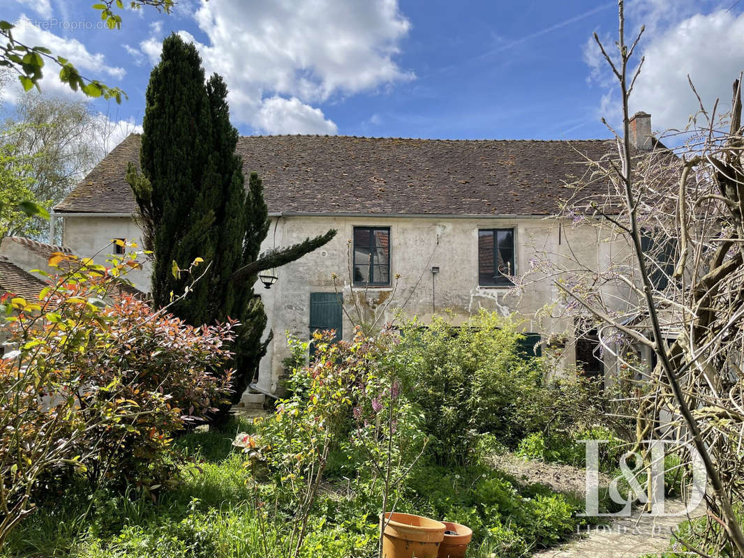
[[[205,83],[192,44],[175,34],[167,37],[147,86],[141,174],[130,164],[127,179],[139,206],[145,247],[153,251],[154,304],[169,304],[187,286],[188,278],[173,273],[174,263],[186,267],[201,257],[206,270],[200,266],[196,273],[203,277],[173,305],[173,313],[193,325],[227,318],[242,324],[233,348],[231,403],[237,403],[271,335],[261,341],[266,313],[253,291],[257,274],[323,246],[336,231],[259,257],[269,213],[256,173],[246,191],[227,92],[217,74]],[[223,407],[215,422],[222,422],[228,410],[229,405]]]

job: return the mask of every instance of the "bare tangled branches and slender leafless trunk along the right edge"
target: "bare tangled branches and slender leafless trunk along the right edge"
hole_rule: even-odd
[[[546,257],[542,272],[557,278],[564,317],[597,330],[606,355],[632,371],[637,448],[644,458],[644,440],[674,435],[690,442],[711,487],[708,543],[744,557],[734,513],[744,496],[740,80],[734,81],[732,110],[722,118],[717,102],[706,110],[699,100],[699,112],[677,132],[676,138],[687,138],[681,147],[649,138],[650,150],[636,149],[629,97],[643,59],[629,65],[644,30],[626,43],[623,0],[618,7],[617,53],[594,34],[620,89],[622,129],[608,124],[617,153],[586,161],[562,216],[596,228],[600,242],[612,246],[610,257],[589,265],[569,250]],[[631,358],[637,349],[647,358]]]

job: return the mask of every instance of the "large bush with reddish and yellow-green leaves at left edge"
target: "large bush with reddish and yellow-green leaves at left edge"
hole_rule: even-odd
[[[55,254],[38,301],[4,295],[0,360],[0,544],[42,483],[71,470],[155,490],[173,474],[170,440],[228,391],[234,324],[193,328],[121,296],[121,275]],[[115,304],[112,294],[121,296]]]

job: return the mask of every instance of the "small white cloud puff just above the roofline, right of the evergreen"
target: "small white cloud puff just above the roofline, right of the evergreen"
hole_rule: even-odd
[[[254,124],[269,134],[333,135],[339,131],[336,124],[324,117],[321,109],[313,109],[297,97],[264,99]]]

